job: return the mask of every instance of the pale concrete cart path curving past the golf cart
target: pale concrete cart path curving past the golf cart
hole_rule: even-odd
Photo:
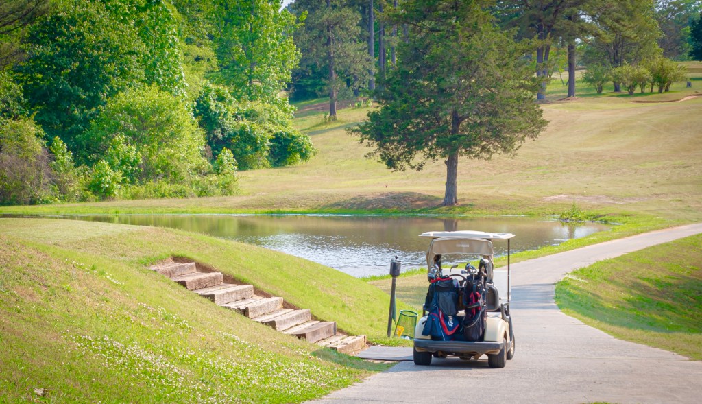
[[[553,301],[554,283],[576,268],[698,233],[702,223],[515,263],[517,348],[505,368],[491,369],[486,359],[401,362],[314,403],[699,403],[702,362],[611,337]]]

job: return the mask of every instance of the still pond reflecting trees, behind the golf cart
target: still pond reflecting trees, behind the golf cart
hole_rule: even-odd
[[[329,215],[79,215],[65,219],[161,226],[259,245],[322,263],[356,277],[384,275],[399,256],[402,269],[426,266],[428,239],[435,230],[514,233],[512,252],[557,245],[608,230],[602,223],[562,223],[519,216],[445,219],[433,216]],[[496,256],[507,254],[495,242]]]

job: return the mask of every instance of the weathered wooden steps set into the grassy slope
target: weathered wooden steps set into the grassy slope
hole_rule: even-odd
[[[169,261],[149,268],[201,297],[210,299],[218,306],[236,310],[251,320],[284,334],[306,339],[340,353],[351,354],[366,348],[366,336],[340,333],[336,330],[336,322],[314,320],[309,308],[294,308],[286,304],[282,297],[255,294],[252,285],[225,282],[223,273],[203,271],[197,263]]]

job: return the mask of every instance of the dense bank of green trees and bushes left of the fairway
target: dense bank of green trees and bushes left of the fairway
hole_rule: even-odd
[[[0,203],[229,195],[310,159],[270,0],[0,0]]]

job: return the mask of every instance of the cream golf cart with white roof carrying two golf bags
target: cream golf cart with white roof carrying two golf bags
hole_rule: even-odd
[[[423,317],[414,332],[414,363],[430,365],[432,357],[477,360],[487,355],[490,367],[505,367],[515,354],[510,317],[510,233],[444,231],[429,237],[429,291]],[[507,270],[494,270],[494,240],[507,240]],[[442,268],[442,262],[468,263]],[[478,268],[470,263],[477,259]]]

